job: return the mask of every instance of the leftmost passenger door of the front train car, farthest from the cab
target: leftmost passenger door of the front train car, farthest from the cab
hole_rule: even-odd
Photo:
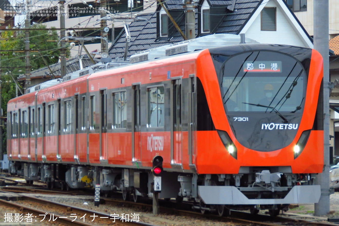
[[[100,90],[100,162],[107,163],[107,94]]]

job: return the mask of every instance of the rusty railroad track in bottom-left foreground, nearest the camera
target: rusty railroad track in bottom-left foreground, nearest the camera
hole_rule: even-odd
[[[1,191],[2,192],[2,191]],[[10,193],[10,192],[7,192]],[[12,193],[11,194],[15,194]],[[83,226],[93,226],[93,225],[127,225],[127,226],[154,226],[152,224],[137,222],[137,221],[126,221],[126,219],[122,219],[118,216],[112,216],[113,214],[105,214],[101,212],[97,212],[94,210],[88,210],[80,207],[69,206],[41,198],[30,197],[26,195],[20,195],[24,198],[24,204],[18,202],[8,202],[0,199],[0,204],[5,205],[11,208],[17,208],[21,213],[31,213],[38,215],[51,215],[53,214],[53,219],[56,219],[57,223],[64,225],[83,225]],[[39,204],[40,207],[31,207],[27,206],[28,204],[36,206]],[[47,209],[52,209],[48,211]],[[73,214],[73,217],[70,217]],[[83,220],[74,220],[75,214],[77,215],[76,219],[80,219],[80,216],[87,216],[87,218],[83,218]],[[93,218],[93,215],[95,217]],[[78,217],[79,216],[79,217]],[[94,219],[93,222],[91,219]],[[95,219],[98,219],[95,221]],[[138,218],[135,218],[138,220]],[[132,219],[130,219],[132,220]],[[47,220],[46,220],[47,221]]]

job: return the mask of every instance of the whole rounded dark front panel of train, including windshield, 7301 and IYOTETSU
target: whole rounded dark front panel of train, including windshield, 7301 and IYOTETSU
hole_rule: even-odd
[[[278,52],[246,52],[226,60],[220,73],[226,116],[243,146],[273,151],[293,141],[307,86],[299,61]]]

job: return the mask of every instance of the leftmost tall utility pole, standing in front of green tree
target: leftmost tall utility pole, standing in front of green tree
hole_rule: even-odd
[[[31,2],[29,0],[26,1],[26,19],[25,19],[25,76],[26,76],[26,82],[25,82],[25,90],[28,89],[31,86],[31,58],[30,58],[30,52],[29,52],[29,30],[28,28],[31,26],[31,18],[29,16],[30,9],[29,5]]]

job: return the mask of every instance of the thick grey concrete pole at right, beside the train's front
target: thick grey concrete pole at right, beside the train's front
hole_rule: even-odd
[[[324,129],[324,168],[316,176],[316,184],[321,185],[321,196],[314,204],[314,215],[320,216],[330,212],[330,76],[328,51],[328,0],[313,1],[314,49],[324,60],[323,80],[323,129]]]

